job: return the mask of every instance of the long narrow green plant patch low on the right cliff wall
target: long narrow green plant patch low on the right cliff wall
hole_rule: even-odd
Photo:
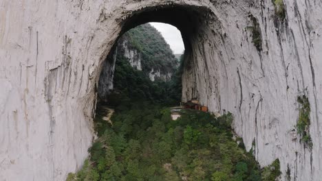
[[[313,143],[310,136],[310,102],[306,95],[297,97],[299,103],[299,119],[297,120],[297,133],[301,136],[301,142],[312,149]]]

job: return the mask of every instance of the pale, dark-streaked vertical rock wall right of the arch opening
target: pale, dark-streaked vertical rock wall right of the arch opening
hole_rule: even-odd
[[[197,98],[213,112],[233,112],[235,131],[247,149],[255,143],[259,163],[281,160],[281,180],[288,169],[291,180],[320,180],[322,3],[284,2],[285,20],[275,15],[271,1],[214,3],[222,8],[212,22],[204,21],[211,30],[200,29],[203,41],[192,40],[182,98]],[[253,43],[253,17],[260,50]],[[312,149],[297,134],[299,95],[310,101]]]

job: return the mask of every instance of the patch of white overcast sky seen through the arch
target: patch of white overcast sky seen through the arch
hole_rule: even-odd
[[[181,33],[179,29],[176,27],[164,24],[164,23],[150,23],[158,29],[159,32],[161,32],[164,39],[167,41],[167,43],[170,45],[171,49],[173,50],[173,53],[175,54],[181,54],[184,51],[184,44],[182,41]]]

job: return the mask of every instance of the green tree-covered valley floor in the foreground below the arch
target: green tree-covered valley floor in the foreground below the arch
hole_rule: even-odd
[[[180,115],[173,120],[173,114]],[[67,180],[275,180],[278,160],[260,169],[235,138],[228,113],[162,108],[151,102],[98,107],[98,139]],[[237,144],[238,143],[238,144]]]

